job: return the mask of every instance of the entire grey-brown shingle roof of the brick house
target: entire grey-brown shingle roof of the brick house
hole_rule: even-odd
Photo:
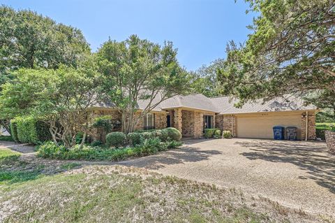
[[[161,95],[155,97],[151,104],[158,103],[161,100]],[[138,109],[145,109],[149,100],[137,101]],[[305,106],[301,98],[295,96],[285,96],[272,99],[270,101],[257,100],[244,104],[242,108],[235,108],[236,99],[230,100],[228,96],[218,96],[207,98],[203,94],[190,94],[186,96],[173,96],[156,106],[153,111],[162,111],[168,108],[193,108],[198,110],[207,110],[219,114],[235,114],[235,113],[258,113],[270,111],[285,111],[285,110],[315,110],[315,106]],[[99,108],[115,108],[112,103],[96,103],[94,107]]]

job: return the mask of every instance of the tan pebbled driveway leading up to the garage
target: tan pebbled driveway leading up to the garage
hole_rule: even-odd
[[[284,206],[335,216],[335,156],[325,143],[189,140],[177,150],[118,164],[233,187]]]

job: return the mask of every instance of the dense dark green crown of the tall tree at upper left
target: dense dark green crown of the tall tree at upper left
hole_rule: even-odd
[[[89,55],[89,44],[74,27],[57,24],[31,10],[0,6],[0,74],[17,68],[57,69],[77,66]]]

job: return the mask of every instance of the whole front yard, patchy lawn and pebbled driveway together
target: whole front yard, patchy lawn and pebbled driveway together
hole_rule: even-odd
[[[186,143],[115,165],[40,159],[1,142],[0,222],[332,221],[334,159],[323,143]]]

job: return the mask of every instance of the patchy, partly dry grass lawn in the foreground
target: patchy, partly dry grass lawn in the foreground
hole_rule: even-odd
[[[85,165],[29,159],[1,166],[0,173],[8,177],[0,178],[0,222],[320,220],[237,189],[219,189],[139,168]]]

